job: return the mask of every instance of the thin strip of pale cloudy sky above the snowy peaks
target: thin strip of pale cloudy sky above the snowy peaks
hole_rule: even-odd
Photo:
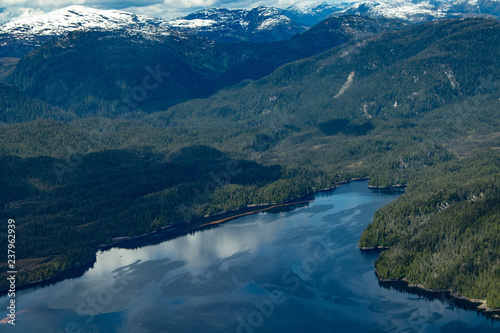
[[[0,24],[14,18],[40,15],[71,5],[97,9],[117,9],[141,15],[173,19],[207,7],[253,8],[274,6],[279,8],[303,0],[0,0]],[[326,0],[325,2],[333,2]]]

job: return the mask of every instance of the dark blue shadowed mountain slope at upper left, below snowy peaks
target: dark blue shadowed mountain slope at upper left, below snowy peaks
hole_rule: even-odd
[[[398,21],[332,18],[288,41],[263,44],[175,33],[152,39],[129,31],[74,32],[25,56],[6,81],[80,116],[151,113],[401,26]],[[158,75],[156,82],[151,79]]]

